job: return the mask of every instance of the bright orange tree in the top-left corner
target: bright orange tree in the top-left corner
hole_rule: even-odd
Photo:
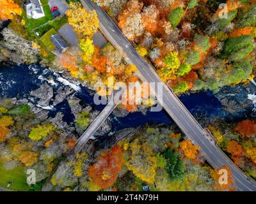
[[[0,1],[0,20],[13,19],[14,15],[21,15],[22,11],[13,0]]]

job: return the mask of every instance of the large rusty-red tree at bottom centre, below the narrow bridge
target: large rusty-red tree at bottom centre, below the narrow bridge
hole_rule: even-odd
[[[88,177],[101,189],[108,189],[115,183],[123,163],[122,149],[114,146],[110,152],[102,154],[97,159],[97,163],[90,166]]]

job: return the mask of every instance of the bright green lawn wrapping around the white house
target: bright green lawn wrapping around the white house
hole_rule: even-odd
[[[42,17],[42,18],[33,19],[33,18],[28,18],[26,14],[24,15],[24,20],[26,22],[25,25],[29,30],[32,30],[40,25],[47,23],[49,20],[54,19],[52,17],[52,13],[48,4],[43,6],[43,9],[44,9],[45,17]]]

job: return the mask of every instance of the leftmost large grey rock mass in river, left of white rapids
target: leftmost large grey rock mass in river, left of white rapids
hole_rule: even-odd
[[[30,92],[31,96],[39,98],[38,105],[40,106],[49,106],[49,102],[53,97],[53,89],[46,82],[40,86],[40,88],[35,91]]]

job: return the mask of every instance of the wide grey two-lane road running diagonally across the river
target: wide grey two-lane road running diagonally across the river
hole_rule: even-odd
[[[140,57],[127,38],[123,36],[115,22],[111,20],[102,8],[90,0],[81,0],[81,3],[86,9],[97,11],[102,33],[105,34],[106,38],[108,38],[114,47],[125,52],[127,57],[136,65],[145,80],[148,82],[162,82],[154,68]],[[221,168],[223,165],[227,165],[233,172],[236,188],[238,190],[256,191],[255,181],[246,177],[243,171],[239,170],[239,168],[211,142],[211,136],[207,136],[205,130],[196,122],[194,117],[180,102],[179,98],[177,98],[166,85],[164,85],[163,89],[163,103],[161,103],[161,96],[157,96],[157,100],[183,133],[186,134],[193,143],[201,147],[202,151],[205,153],[205,159],[207,159],[213,168]]]

